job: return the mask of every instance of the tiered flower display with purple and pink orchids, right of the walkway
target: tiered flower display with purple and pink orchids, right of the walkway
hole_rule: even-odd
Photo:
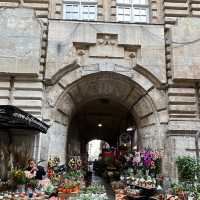
[[[118,196],[147,198],[156,194],[157,178],[161,169],[161,156],[158,151],[123,152],[119,159],[123,163],[120,180],[112,182],[116,199]]]

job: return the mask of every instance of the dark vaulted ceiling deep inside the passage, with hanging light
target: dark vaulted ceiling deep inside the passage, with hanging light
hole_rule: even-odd
[[[117,136],[134,124],[127,108],[106,98],[82,106],[72,121],[76,124],[74,127],[78,128],[81,140],[102,139],[110,144],[116,144]]]

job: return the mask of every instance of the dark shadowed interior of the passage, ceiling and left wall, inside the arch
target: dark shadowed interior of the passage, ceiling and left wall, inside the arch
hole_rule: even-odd
[[[109,98],[89,101],[71,119],[67,153],[86,153],[87,144],[93,139],[105,140],[117,147],[120,135],[128,127],[136,128],[136,122],[126,107]]]

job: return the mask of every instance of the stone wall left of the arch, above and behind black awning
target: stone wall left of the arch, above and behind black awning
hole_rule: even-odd
[[[13,2],[12,2],[13,3]],[[13,5],[13,4],[12,4]],[[31,8],[2,7],[0,2],[0,104],[15,105],[42,119],[43,106],[43,22]],[[39,159],[40,135],[33,131],[9,130],[12,146],[26,144]],[[8,132],[0,130],[5,137]],[[27,147],[26,147],[27,148]]]

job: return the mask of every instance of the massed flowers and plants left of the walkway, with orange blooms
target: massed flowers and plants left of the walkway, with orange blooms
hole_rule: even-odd
[[[109,200],[103,185],[86,187],[85,173],[79,156],[71,157],[67,165],[60,165],[58,157],[50,158],[48,178],[44,180],[37,180],[36,174],[26,169],[14,169],[11,174],[12,189],[0,192],[0,199]]]

